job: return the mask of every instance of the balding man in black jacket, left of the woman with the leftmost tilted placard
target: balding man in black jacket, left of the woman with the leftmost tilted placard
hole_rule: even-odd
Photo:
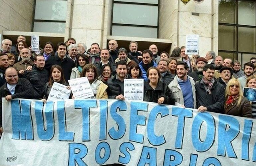
[[[23,78],[26,78],[32,84],[35,90],[35,99],[40,99],[45,84],[49,81],[49,72],[45,67],[45,58],[39,54],[34,58],[34,65],[31,71],[26,71]]]

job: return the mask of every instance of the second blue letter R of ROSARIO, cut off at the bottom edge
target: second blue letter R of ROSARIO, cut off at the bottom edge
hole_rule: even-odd
[[[173,160],[171,160],[171,157],[173,156]],[[169,150],[166,149],[165,150],[165,158],[164,158],[164,164],[163,166],[176,166],[176,165],[180,165],[181,162],[183,160],[183,157],[181,155],[181,153],[175,151],[175,150]]]

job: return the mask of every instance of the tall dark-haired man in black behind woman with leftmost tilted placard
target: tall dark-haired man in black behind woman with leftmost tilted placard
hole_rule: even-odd
[[[45,69],[50,71],[52,65],[54,64],[61,66],[65,80],[66,82],[68,82],[68,80],[70,79],[72,68],[75,67],[75,62],[66,56],[66,51],[66,44],[64,42],[59,42],[57,44],[58,56],[50,57],[45,64]]]

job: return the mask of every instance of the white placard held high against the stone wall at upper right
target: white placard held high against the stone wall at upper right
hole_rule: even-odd
[[[199,35],[186,35],[186,51],[185,54],[199,54]]]

